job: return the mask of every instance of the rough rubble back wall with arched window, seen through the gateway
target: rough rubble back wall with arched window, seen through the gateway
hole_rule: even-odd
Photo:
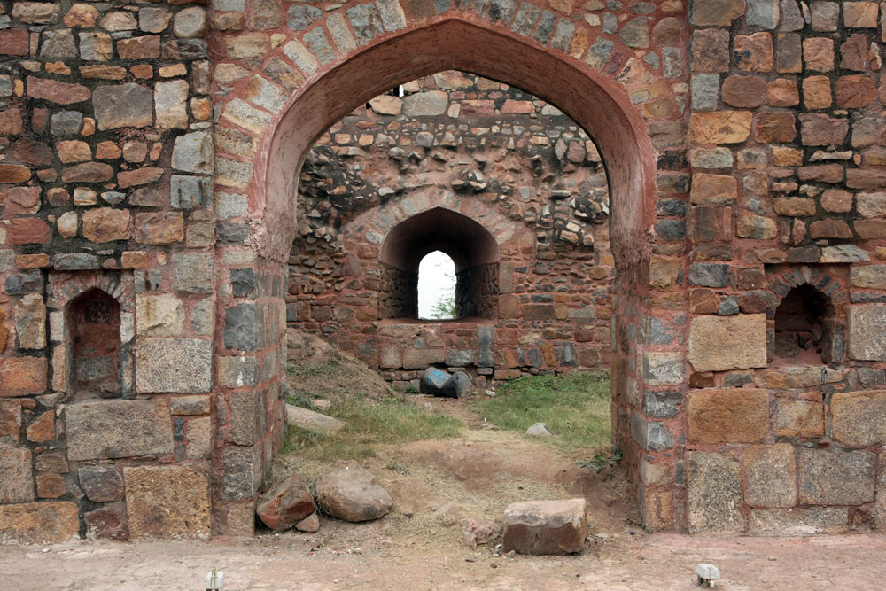
[[[485,375],[608,368],[609,192],[593,141],[548,103],[501,82],[448,71],[401,88],[403,97],[394,89],[336,123],[308,155],[290,257],[291,325],[400,385],[417,385],[424,367],[416,358],[482,369],[479,385]],[[470,211],[500,251],[499,261],[477,264],[464,254],[470,244],[437,245],[464,266],[456,324],[418,322],[416,273],[379,260],[389,240],[400,251],[411,243],[378,222],[408,223],[439,206]],[[483,324],[497,358],[480,362],[471,317],[494,321]],[[389,321],[381,334],[378,320]],[[418,324],[405,332],[439,338],[401,338],[391,328],[398,320]],[[428,351],[395,350],[416,347]]]

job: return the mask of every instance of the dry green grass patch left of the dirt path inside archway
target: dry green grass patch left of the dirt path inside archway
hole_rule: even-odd
[[[345,422],[334,435],[321,435],[290,426],[284,453],[319,460],[359,459],[375,455],[372,444],[457,437],[464,424],[453,416],[428,413],[400,400],[346,399],[334,403],[330,416]]]

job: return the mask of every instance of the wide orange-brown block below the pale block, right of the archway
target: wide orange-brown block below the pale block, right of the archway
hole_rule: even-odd
[[[768,432],[766,390],[704,389],[688,394],[687,440],[692,443],[757,443]]]

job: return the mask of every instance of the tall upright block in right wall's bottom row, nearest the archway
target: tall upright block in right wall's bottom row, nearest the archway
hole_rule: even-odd
[[[687,460],[690,533],[741,532],[741,467],[732,454],[691,452]]]

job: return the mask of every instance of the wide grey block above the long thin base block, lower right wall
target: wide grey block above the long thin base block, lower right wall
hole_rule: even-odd
[[[802,505],[860,505],[874,501],[877,456],[866,451],[807,449],[797,451]]]

